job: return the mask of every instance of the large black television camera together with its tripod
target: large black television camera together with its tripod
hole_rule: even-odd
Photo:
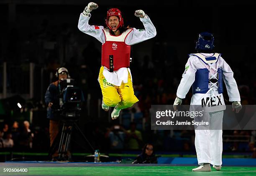
[[[85,141],[89,144],[92,151],[94,151],[92,145],[87,140],[87,138],[82,133],[82,130],[77,125],[77,121],[80,117],[82,110],[82,102],[84,102],[84,95],[82,89],[74,86],[74,79],[61,79],[59,82],[59,109],[55,111],[61,117],[63,123],[62,131],[56,139],[54,140],[53,145],[51,146],[49,156],[51,156],[54,151],[57,149],[59,144],[58,154],[59,160],[69,160],[66,157],[67,151],[69,151],[71,134],[74,127],[79,131]]]

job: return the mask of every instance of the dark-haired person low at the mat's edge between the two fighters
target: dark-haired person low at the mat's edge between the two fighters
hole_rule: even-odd
[[[133,164],[157,164],[154,147],[152,144],[145,144],[142,153],[137,156]]]

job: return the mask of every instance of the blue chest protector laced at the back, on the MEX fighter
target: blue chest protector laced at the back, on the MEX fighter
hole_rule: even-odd
[[[201,59],[205,64],[212,64],[218,62],[218,59],[220,57],[220,54],[215,53],[212,57],[206,57],[200,53],[196,54],[190,54],[197,56],[199,59]],[[216,70],[216,69],[215,69]],[[223,81],[222,81],[222,69],[218,68],[217,70],[217,79],[218,83],[216,86],[218,87],[218,93],[223,93]],[[209,90],[208,84],[210,83],[209,79],[209,73],[210,71],[207,68],[203,69],[197,69],[195,73],[195,82],[192,85],[192,92],[193,94],[206,94]]]

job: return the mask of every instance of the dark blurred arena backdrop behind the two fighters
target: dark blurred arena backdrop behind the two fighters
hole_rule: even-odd
[[[56,68],[64,66],[84,91],[87,102],[84,104],[79,126],[96,148],[109,152],[111,147],[106,136],[109,128],[113,124],[120,124],[127,130],[131,117],[137,114],[137,119],[134,118],[133,121],[141,131],[143,143],[152,142],[159,151],[195,153],[194,131],[151,131],[149,109],[151,104],[174,102],[188,54],[196,52],[198,34],[204,31],[214,35],[215,52],[222,53],[233,70],[241,103],[255,104],[256,2],[97,0],[94,2],[99,8],[91,12],[90,25],[104,26],[107,10],[117,7],[122,11],[125,26],[142,29],[142,23],[134,16],[135,10],[142,9],[157,31],[156,37],[133,45],[131,50],[133,86],[140,101],[133,108],[123,110],[122,121],[110,121],[109,114],[99,109],[102,95],[97,77],[101,43],[77,28],[79,15],[88,2],[0,1],[0,62],[7,63],[7,94],[8,97],[19,95],[27,107],[22,113],[9,113],[6,110],[1,115],[1,124],[7,123],[11,128],[13,121],[19,121],[22,125],[23,120],[29,119],[29,112],[33,111],[31,129],[37,134],[33,139],[34,150],[46,152],[49,147],[49,121],[46,119],[44,93],[55,79],[51,75],[55,74]],[[33,96],[29,97],[28,68],[31,62],[35,64],[34,86]],[[3,80],[0,80],[2,92]],[[189,104],[191,96],[189,92],[184,104]],[[228,100],[226,93],[224,97]],[[2,99],[3,104],[5,100]],[[230,103],[226,101],[226,104]],[[227,138],[228,135],[241,134],[248,139],[240,143],[227,142],[224,151],[251,152],[249,144],[254,147],[255,136],[251,131],[224,131],[223,134]],[[83,147],[74,148],[76,151],[84,151]]]

